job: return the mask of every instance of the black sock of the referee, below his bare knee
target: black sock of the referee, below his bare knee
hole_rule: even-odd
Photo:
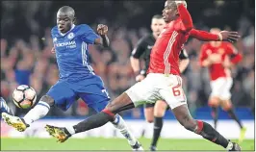
[[[151,142],[152,146],[156,146],[157,145],[157,141],[160,137],[161,131],[163,128],[163,117],[155,117],[154,120],[154,133],[153,133],[153,139]]]

